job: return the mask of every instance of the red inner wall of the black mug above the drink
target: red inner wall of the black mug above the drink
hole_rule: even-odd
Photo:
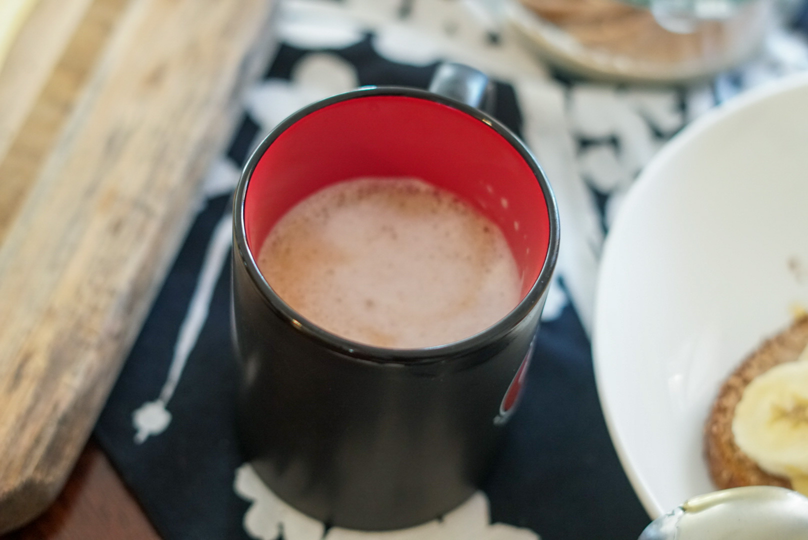
[[[272,226],[318,190],[358,177],[415,177],[465,200],[503,230],[522,279],[537,280],[549,215],[536,175],[486,123],[443,103],[367,95],[309,113],[272,141],[244,201],[247,247],[257,258]]]

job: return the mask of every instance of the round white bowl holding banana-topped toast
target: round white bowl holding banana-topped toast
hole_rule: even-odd
[[[808,307],[808,76],[697,120],[608,235],[592,348],[600,403],[651,517],[713,491],[702,428],[743,356]]]

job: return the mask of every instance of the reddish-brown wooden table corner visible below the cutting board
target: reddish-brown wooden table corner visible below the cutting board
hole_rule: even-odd
[[[90,440],[44,515],[0,540],[160,540],[99,445]]]

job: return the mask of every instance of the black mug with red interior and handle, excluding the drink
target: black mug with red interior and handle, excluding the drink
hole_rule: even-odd
[[[272,130],[238,184],[239,437],[267,486],[326,524],[398,529],[461,504],[516,406],[558,255],[558,211],[524,143],[473,107],[489,89],[480,72],[447,64],[432,91],[324,99]],[[423,179],[497,223],[521,272],[516,308],[464,340],[416,349],[352,342],[292,310],[259,272],[263,239],[306,196],[368,176]]]

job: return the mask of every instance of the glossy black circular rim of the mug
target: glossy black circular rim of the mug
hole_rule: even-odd
[[[533,281],[528,293],[524,294],[524,297],[522,297],[516,307],[510,310],[502,319],[499,319],[499,321],[490,327],[476,334],[469,335],[462,340],[423,348],[389,348],[348,340],[347,338],[327,331],[314,324],[309,319],[306,319],[302,314],[297,312],[297,310],[292,309],[292,306],[284,302],[280,295],[271,288],[266,278],[264,278],[263,274],[260,272],[255,257],[247,244],[244,219],[246,192],[250,185],[250,179],[255,172],[255,168],[258,167],[259,161],[263,158],[263,154],[271,144],[289,127],[313,112],[317,112],[334,103],[376,95],[406,96],[441,103],[448,107],[455,108],[460,112],[464,112],[486,124],[491,129],[494,129],[495,132],[499,133],[511,147],[519,152],[524,162],[530,167],[533,176],[537,179],[542,195],[544,196],[549,221],[549,238],[544,264],[541,266],[541,271],[536,281]],[[488,115],[486,112],[482,112],[478,108],[474,108],[466,103],[461,103],[460,101],[443,95],[407,86],[362,86],[356,90],[332,95],[326,99],[310,103],[297,112],[294,112],[291,116],[288,116],[285,120],[280,122],[280,124],[277,124],[276,127],[267,134],[267,137],[264,137],[259,146],[253,150],[252,154],[250,154],[250,159],[247,160],[242,174],[238,179],[233,205],[234,250],[238,250],[238,259],[240,259],[241,264],[245,266],[247,274],[250,276],[250,281],[252,281],[255,288],[258,289],[264,302],[267,302],[271,310],[278,314],[288,326],[307,335],[309,339],[317,340],[330,350],[341,352],[353,358],[372,361],[377,364],[434,364],[452,357],[465,356],[469,352],[494,343],[503,335],[507,335],[507,333],[516,328],[520,321],[522,321],[530,310],[536,306],[537,302],[541,300],[542,295],[549,287],[553,269],[558,259],[559,218],[555,195],[549,186],[547,177],[541,169],[539,162],[536,157],[533,156],[532,152],[528,150],[524,142],[516,136],[516,133],[513,133],[511,129],[508,129],[507,126],[502,124],[502,122]]]

